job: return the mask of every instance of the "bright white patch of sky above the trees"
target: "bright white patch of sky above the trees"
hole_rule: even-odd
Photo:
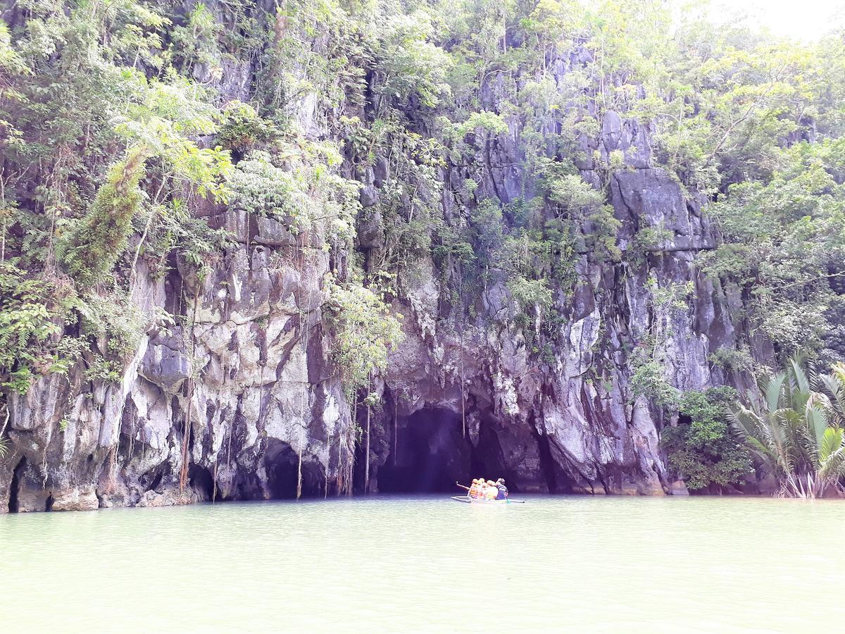
[[[731,13],[744,13],[751,24],[777,36],[813,41],[845,25],[845,0],[733,0],[719,2]]]

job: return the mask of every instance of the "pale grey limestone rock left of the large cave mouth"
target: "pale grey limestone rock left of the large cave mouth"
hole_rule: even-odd
[[[307,493],[326,478],[335,486],[351,460],[350,416],[321,325],[327,257],[272,263],[248,245],[242,213],[221,215],[238,243],[201,283],[179,271],[153,279],[139,265],[134,301],[189,318],[144,336],[119,383],[48,375],[13,396],[3,510],[90,509],[97,496],[102,506],[286,496],[299,456]]]

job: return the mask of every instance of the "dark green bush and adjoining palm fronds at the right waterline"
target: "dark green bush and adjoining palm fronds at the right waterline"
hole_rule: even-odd
[[[742,397],[728,387],[685,392],[661,441],[693,490],[739,488],[756,471],[783,497],[843,495],[845,363],[821,372],[796,355]]]

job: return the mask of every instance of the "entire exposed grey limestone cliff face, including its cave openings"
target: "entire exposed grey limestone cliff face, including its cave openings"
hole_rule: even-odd
[[[565,72],[562,65],[559,80]],[[248,73],[227,68],[222,93],[248,98]],[[486,99],[495,110],[494,85]],[[303,99],[299,116],[319,137],[314,103]],[[511,141],[518,125],[479,156],[485,178],[476,199],[508,203],[532,188]],[[648,128],[608,112],[597,138],[582,139],[587,156],[624,156],[609,176],[591,161],[579,166],[597,187],[609,178],[619,248],[635,249],[644,228],[662,241],[637,265],[597,265],[580,254],[574,292],[556,298],[560,319],[542,363],[514,323],[503,280],[482,290],[477,316],[444,320],[450,289],[431,261],[419,265],[421,279],[395,302],[406,339],[376,385],[383,406],[370,413],[370,490],[446,489],[476,473],[504,474],[521,491],[670,490],[658,432],[671,421],[632,391],[636,346],[651,336],[665,379],[702,389],[741,380],[712,369],[708,355],[745,335],[734,318],[741,298],[695,268],[696,254],[717,239],[701,200],[657,166],[650,138]],[[446,216],[457,213],[451,183],[466,178],[462,169],[440,174]],[[372,204],[378,174],[361,179],[363,205]],[[323,243],[323,229],[293,237],[237,206],[194,212],[235,237],[212,274],[199,281],[179,267],[157,278],[142,258],[132,282],[141,309],[186,319],[148,332],[117,383],[46,375],[11,398],[0,512],[292,497],[299,482],[303,495],[334,495],[350,478],[363,489],[354,418],[363,425],[366,413],[351,411],[332,367],[321,310],[329,255],[310,248]],[[368,228],[360,231],[366,251]],[[652,292],[690,283],[691,309],[662,305]],[[751,343],[766,356],[762,342]]]

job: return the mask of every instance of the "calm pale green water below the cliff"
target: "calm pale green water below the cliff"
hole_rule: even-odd
[[[826,631],[845,504],[448,496],[0,516],[3,631]],[[493,599],[482,599],[487,593]]]

